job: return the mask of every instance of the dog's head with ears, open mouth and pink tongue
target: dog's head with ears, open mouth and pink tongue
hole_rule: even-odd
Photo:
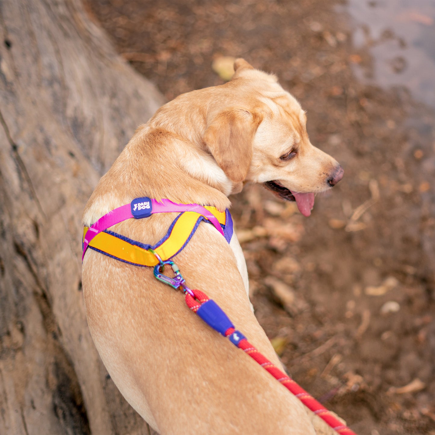
[[[243,59],[234,70],[227,107],[207,116],[204,144],[235,185],[263,183],[309,216],[314,194],[337,184],[343,168],[311,144],[304,110],[275,76]]]

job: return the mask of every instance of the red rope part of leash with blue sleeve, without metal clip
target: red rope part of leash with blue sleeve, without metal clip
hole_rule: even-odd
[[[212,328],[221,332],[218,328],[222,329],[222,327],[228,326],[224,325],[226,319],[218,319],[219,323],[218,328],[215,325],[211,325],[211,323],[216,323],[216,318],[210,319],[207,315],[210,315],[210,311],[215,311],[218,305],[211,299],[207,297],[205,293],[199,290],[191,290],[194,294],[194,298],[186,292],[186,304],[187,306],[200,315],[200,317],[206,321]],[[208,310],[207,314],[198,312],[201,307],[205,307],[205,304],[212,303],[211,310]],[[218,309],[223,313],[221,308]],[[216,311],[213,313],[215,317],[221,315],[221,313],[217,313]],[[223,313],[224,314],[224,313]],[[206,317],[206,318],[204,318]],[[225,315],[226,317],[226,315]],[[228,318],[227,318],[228,319]],[[228,319],[229,321],[229,319]],[[231,321],[230,321],[231,323]],[[221,332],[222,333],[222,332]],[[262,355],[249,341],[241,334],[240,331],[236,331],[234,326],[231,324],[230,328],[227,328],[224,331],[225,337],[230,338],[231,342],[234,343],[238,348],[245,351],[254,361],[258,362],[261,367],[267,370],[275,379],[281,382],[285,388],[287,388],[292,394],[294,394],[308,409],[311,409],[312,412],[317,414],[322,420],[324,420],[331,428],[338,432],[340,435],[356,435],[355,432],[351,431],[347,426],[343,425],[338,418],[332,415],[327,409],[325,409],[314,397],[307,393],[301,386],[299,386],[293,379],[289,378],[284,372],[279,370],[276,365],[274,365],[271,361],[269,361],[264,355]]]

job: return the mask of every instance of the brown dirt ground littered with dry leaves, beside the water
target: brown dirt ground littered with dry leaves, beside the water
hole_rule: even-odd
[[[432,108],[355,78],[374,60],[354,47],[345,3],[87,7],[168,100],[223,83],[212,61],[235,56],[301,101],[311,142],[345,177],[309,218],[261,186],[231,198],[258,320],[294,379],[355,432],[435,434]]]

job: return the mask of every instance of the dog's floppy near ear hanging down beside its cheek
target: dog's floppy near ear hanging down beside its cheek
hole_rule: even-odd
[[[244,181],[248,174],[252,141],[260,122],[260,115],[232,107],[219,112],[204,133],[204,144],[234,183]]]

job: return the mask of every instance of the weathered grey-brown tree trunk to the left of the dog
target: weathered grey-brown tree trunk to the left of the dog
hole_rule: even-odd
[[[81,214],[164,102],[78,1],[0,3],[0,433],[148,433],[81,293]]]

